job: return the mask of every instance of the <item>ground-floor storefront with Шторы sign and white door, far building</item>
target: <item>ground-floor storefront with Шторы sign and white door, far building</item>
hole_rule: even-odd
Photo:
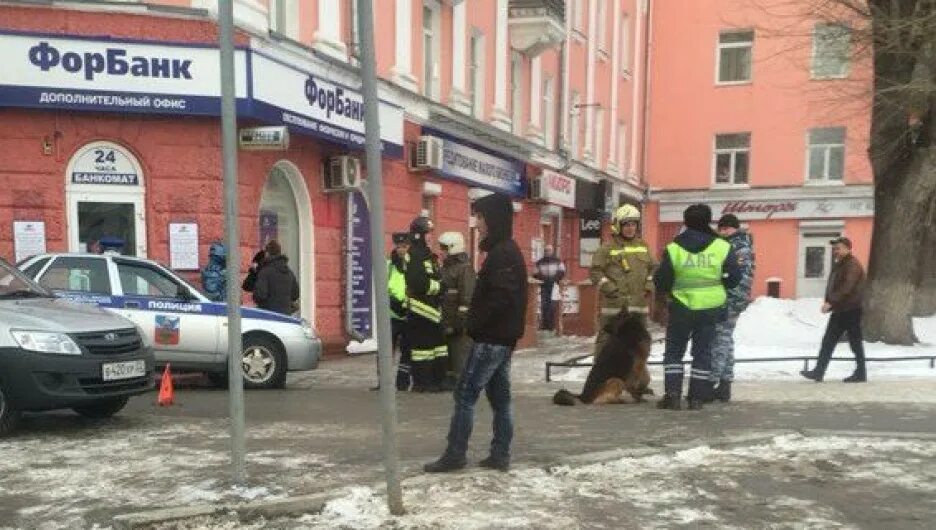
[[[712,208],[714,220],[734,214],[754,238],[757,271],[754,296],[817,298],[825,293],[832,265],[829,240],[849,237],[854,252],[867,264],[871,248],[874,199],[871,186],[838,188],[770,188],[730,196],[714,193],[659,192],[660,229],[656,249],[682,228],[682,212],[703,202]]]

